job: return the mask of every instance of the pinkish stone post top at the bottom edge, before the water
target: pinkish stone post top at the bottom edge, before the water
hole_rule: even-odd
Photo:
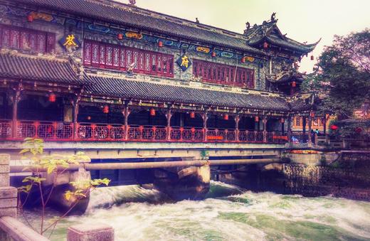
[[[110,225],[73,225],[68,227],[67,241],[115,240],[115,230]]]

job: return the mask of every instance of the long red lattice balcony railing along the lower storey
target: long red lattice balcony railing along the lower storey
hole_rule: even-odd
[[[20,141],[32,137],[45,141],[287,142],[286,134],[281,132],[137,125],[126,129],[123,124],[98,123],[78,123],[74,129],[70,122],[35,121],[16,122],[16,136],[13,136],[13,125],[11,120],[0,120],[0,140]]]

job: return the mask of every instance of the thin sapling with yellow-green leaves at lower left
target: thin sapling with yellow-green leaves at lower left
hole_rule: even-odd
[[[23,215],[23,218],[26,220],[28,225],[41,235],[48,230],[51,231],[50,235],[52,235],[53,229],[56,227],[57,223],[65,218],[65,216],[67,216],[68,213],[75,208],[82,198],[86,198],[91,191],[94,191],[95,188],[97,188],[97,186],[108,186],[110,183],[110,180],[107,178],[70,182],[70,185],[73,186],[73,190],[68,190],[64,193],[64,198],[66,200],[72,200],[70,207],[65,213],[63,213],[63,215],[51,220],[51,223],[46,225],[45,210],[51,196],[53,195],[58,176],[67,171],[70,164],[80,164],[82,161],[90,161],[90,158],[85,156],[83,152],[78,152],[77,154],[71,156],[44,155],[43,140],[33,138],[24,139],[24,149],[22,149],[19,153],[23,155],[22,159],[27,159],[31,162],[31,165],[25,169],[33,174],[32,176],[23,178],[22,182],[25,183],[25,185],[18,188],[18,210]],[[45,182],[47,178],[52,178],[53,180],[53,184],[48,191],[44,190],[43,188],[43,182]],[[23,207],[26,205],[33,188],[36,188],[36,192],[41,198],[41,221],[39,230],[31,225],[26,217],[26,214],[23,212]],[[23,200],[21,198],[21,193],[25,193],[26,196]]]

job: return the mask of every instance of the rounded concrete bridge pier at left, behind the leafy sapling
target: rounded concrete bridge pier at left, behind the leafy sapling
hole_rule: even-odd
[[[50,198],[49,205],[52,205],[53,208],[56,210],[60,210],[63,213],[70,210],[70,208],[74,205],[72,210],[70,210],[70,214],[83,214],[85,210],[88,208],[88,204],[90,201],[90,190],[85,187],[90,183],[91,176],[90,171],[86,171],[85,168],[79,168],[78,171],[65,171],[58,177],[53,175],[46,175],[46,181],[43,183],[43,193],[45,196],[48,195],[48,192],[51,191],[52,186],[53,194]],[[75,187],[70,184],[70,182],[80,183],[78,188],[83,189],[83,193],[86,194],[86,198],[81,198],[76,203],[76,198],[70,198],[67,200],[65,198],[66,191],[75,191]]]

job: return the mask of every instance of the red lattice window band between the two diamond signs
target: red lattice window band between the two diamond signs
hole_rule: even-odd
[[[125,71],[129,63],[135,63],[134,73],[174,77],[174,55],[98,41],[84,41],[85,66]]]

